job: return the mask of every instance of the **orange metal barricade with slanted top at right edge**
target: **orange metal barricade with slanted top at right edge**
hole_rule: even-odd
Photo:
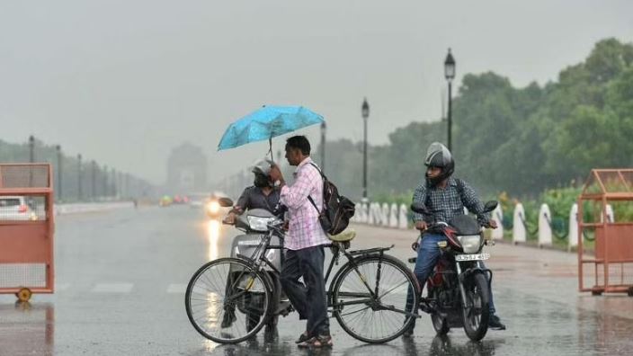
[[[620,209],[617,221],[610,205]],[[577,221],[578,288],[633,297],[633,169],[594,169],[578,198]],[[593,256],[584,251],[584,237],[593,244]],[[593,287],[587,285],[591,280]]]

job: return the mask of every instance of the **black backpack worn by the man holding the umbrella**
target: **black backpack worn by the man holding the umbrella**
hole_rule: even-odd
[[[317,209],[318,222],[325,232],[329,235],[338,235],[349,225],[350,218],[354,216],[356,206],[352,200],[338,193],[338,188],[325,177],[325,174],[318,169],[317,165],[310,165],[317,168],[318,173],[323,178],[323,210],[318,210],[315,200],[312,200],[309,195],[308,200]]]

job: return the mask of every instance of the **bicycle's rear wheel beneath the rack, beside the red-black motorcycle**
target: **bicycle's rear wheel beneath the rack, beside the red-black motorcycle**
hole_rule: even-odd
[[[394,257],[372,255],[346,263],[334,285],[334,316],[343,330],[365,343],[387,343],[415,320],[406,311],[413,273]],[[413,293],[418,304],[417,293]],[[409,301],[411,303],[411,301]]]

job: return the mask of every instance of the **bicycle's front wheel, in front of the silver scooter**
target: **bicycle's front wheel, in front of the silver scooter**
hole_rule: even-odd
[[[270,314],[269,283],[244,260],[205,263],[187,286],[184,305],[189,321],[216,343],[241,343],[257,334],[267,320],[261,316]]]

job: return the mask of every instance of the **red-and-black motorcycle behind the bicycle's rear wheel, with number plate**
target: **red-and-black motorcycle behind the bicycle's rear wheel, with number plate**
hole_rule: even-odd
[[[496,201],[488,201],[484,212],[493,211],[496,206]],[[432,215],[423,205],[413,204],[411,209]],[[426,282],[427,297],[421,298],[420,308],[431,315],[437,334],[447,334],[451,327],[463,327],[470,340],[479,341],[488,330],[493,277],[482,263],[490,258],[483,248],[494,242],[485,238],[483,228],[468,215],[456,216],[449,223],[435,221],[427,231],[446,236],[446,241],[438,243],[441,256]],[[415,263],[415,258],[409,262]]]

